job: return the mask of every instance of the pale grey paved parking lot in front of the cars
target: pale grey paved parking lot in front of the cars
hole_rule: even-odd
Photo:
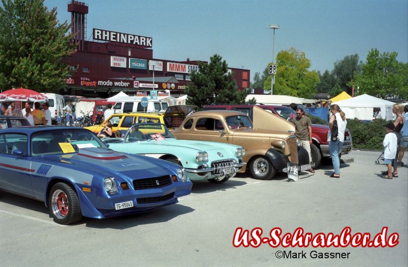
[[[225,184],[196,182],[180,203],[150,213],[105,220],[84,218],[60,226],[43,203],[0,192],[0,266],[407,266],[408,167],[399,178],[382,179],[380,152],[353,151],[341,165],[341,178],[329,178],[331,165],[299,182],[285,174],[271,181],[238,175]],[[346,157],[345,157],[346,158]],[[405,156],[404,162],[408,162]],[[382,161],[381,161],[382,162]],[[235,248],[237,227],[273,227],[292,233],[369,232],[384,226],[397,232],[394,248]],[[277,251],[305,252],[305,259],[279,259]],[[313,259],[311,251],[350,253],[345,259]]]

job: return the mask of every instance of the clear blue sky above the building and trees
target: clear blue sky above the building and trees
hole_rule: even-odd
[[[84,0],[83,0],[84,1]],[[68,1],[45,0],[68,20]],[[397,52],[408,61],[407,0],[90,0],[87,38],[104,29],[153,38],[159,59],[209,61],[214,54],[228,66],[262,72],[272,61],[272,30],[277,52],[294,47],[311,60],[310,70],[332,70],[337,60],[371,48]]]

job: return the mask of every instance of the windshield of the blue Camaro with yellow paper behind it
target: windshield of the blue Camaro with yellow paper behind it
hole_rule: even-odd
[[[51,130],[31,136],[33,156],[75,153],[82,148],[108,149],[96,135],[84,129]]]

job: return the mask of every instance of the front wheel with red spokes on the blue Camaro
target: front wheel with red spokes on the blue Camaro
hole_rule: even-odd
[[[72,224],[82,219],[77,192],[66,183],[57,183],[51,188],[48,207],[54,222],[58,224]]]

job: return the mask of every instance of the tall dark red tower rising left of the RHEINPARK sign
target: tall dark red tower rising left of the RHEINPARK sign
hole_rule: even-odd
[[[73,1],[68,3],[68,12],[71,12],[71,32],[74,34],[73,42],[78,43],[78,51],[84,50],[86,38],[86,14],[88,6],[83,2]]]

